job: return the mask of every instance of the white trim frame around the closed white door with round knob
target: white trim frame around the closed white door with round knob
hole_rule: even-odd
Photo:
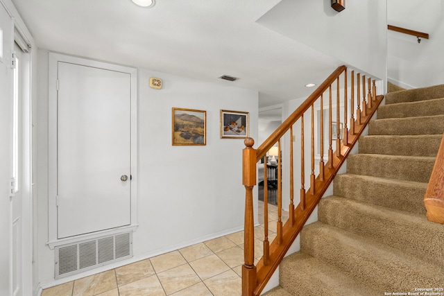
[[[73,64],[85,65],[88,67],[96,67],[101,69],[109,69],[112,71],[120,71],[130,73],[131,76],[131,224],[129,226],[117,227],[101,232],[94,232],[92,234],[83,234],[71,238],[58,239],[57,236],[57,116],[58,116],[58,83],[57,83],[57,69],[58,62],[69,62]],[[87,60],[85,58],[78,58],[71,55],[63,55],[60,53],[49,52],[49,181],[48,181],[48,230],[49,237],[47,245],[51,250],[56,245],[65,243],[74,243],[76,241],[96,238],[104,234],[112,234],[121,232],[122,229],[126,231],[134,231],[137,227],[137,69],[132,67],[121,66],[117,64],[109,64],[106,62],[99,62],[96,60]]]

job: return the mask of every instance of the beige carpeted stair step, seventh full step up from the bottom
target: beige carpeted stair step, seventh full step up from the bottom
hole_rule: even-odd
[[[443,134],[444,115],[376,119],[368,123],[368,134]]]

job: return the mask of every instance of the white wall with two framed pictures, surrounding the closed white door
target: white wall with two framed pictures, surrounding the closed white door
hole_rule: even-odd
[[[43,286],[55,284],[54,253],[46,246],[47,55],[48,51],[40,50],[38,248]],[[150,77],[161,78],[163,88],[150,88]],[[138,78],[139,227],[133,234],[135,257],[131,261],[243,229],[245,189],[241,179],[241,155],[244,141],[220,138],[220,110],[250,112],[250,137],[257,138],[258,93],[231,87],[229,82],[225,87],[148,69],[138,69]],[[206,146],[171,145],[172,107],[207,112]],[[118,264],[126,263],[128,261]],[[97,271],[92,270],[89,274]]]

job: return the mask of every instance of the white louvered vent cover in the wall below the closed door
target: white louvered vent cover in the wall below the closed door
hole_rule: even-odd
[[[59,245],[56,250],[55,277],[60,279],[133,256],[131,232]]]

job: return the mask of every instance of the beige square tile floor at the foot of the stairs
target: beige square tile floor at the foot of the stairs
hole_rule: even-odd
[[[262,256],[263,209],[259,201],[257,261]],[[268,205],[268,216],[271,221],[278,220],[276,206]],[[287,217],[288,212],[282,211],[282,220]],[[268,225],[268,240],[273,241],[275,223]],[[243,264],[242,231],[47,288],[42,296],[240,296]]]

